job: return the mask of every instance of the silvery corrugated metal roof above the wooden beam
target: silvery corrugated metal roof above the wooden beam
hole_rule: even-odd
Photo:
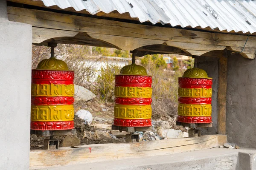
[[[256,0],[42,0],[45,6],[90,14],[100,11],[128,12],[141,23],[171,24],[192,28],[218,28],[220,31],[256,32]]]

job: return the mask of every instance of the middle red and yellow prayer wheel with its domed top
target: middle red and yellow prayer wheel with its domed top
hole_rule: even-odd
[[[140,65],[126,65],[115,77],[114,125],[151,126],[152,77]]]

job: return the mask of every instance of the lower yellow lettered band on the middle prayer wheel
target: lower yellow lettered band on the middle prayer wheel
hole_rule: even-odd
[[[115,105],[114,117],[119,119],[151,119],[151,105]]]

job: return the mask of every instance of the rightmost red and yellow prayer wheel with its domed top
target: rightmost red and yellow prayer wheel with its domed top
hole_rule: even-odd
[[[200,68],[191,68],[179,77],[177,122],[212,122],[212,78]]]

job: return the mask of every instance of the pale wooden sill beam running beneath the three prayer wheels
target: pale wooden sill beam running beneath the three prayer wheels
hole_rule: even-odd
[[[63,166],[144,156],[160,156],[209,149],[223,145],[226,142],[226,135],[210,135],[139,143],[90,144],[78,148],[62,147],[58,150],[32,150],[30,151],[29,163],[30,168],[35,169],[55,165]]]

